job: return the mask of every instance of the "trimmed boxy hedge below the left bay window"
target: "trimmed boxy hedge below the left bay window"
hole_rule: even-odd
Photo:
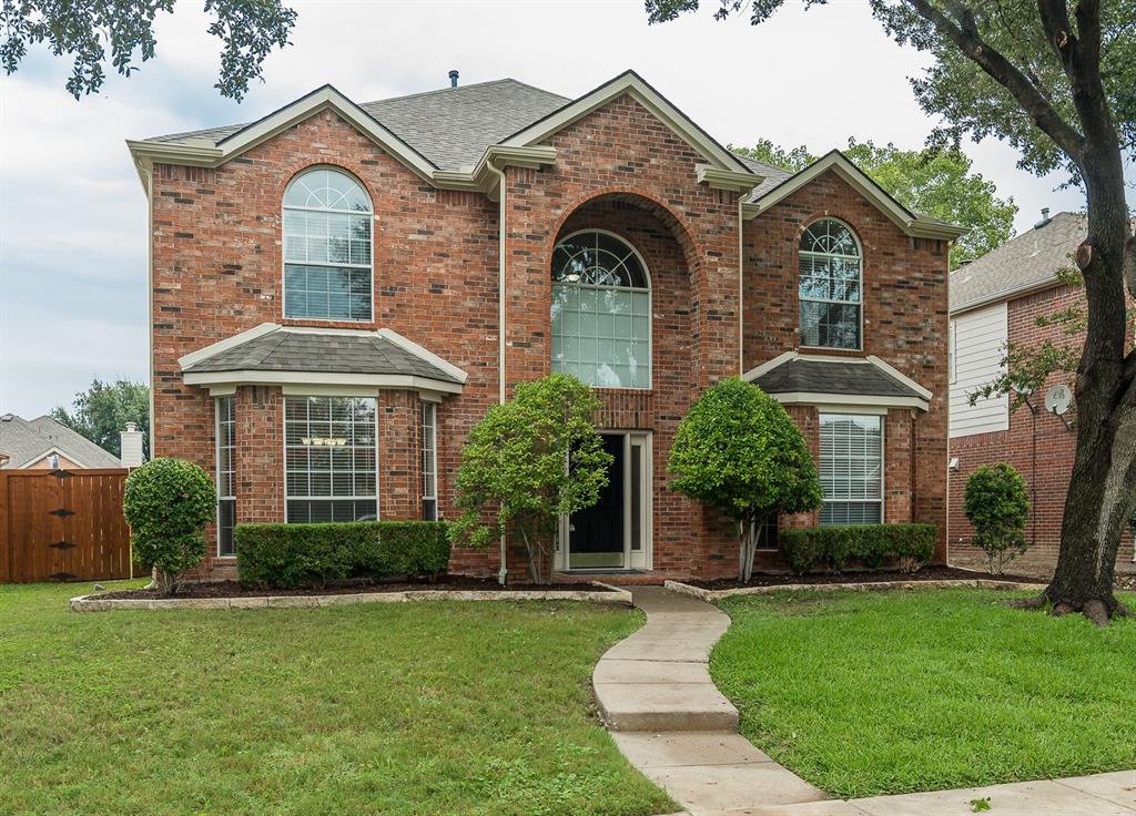
[[[435,575],[450,562],[441,521],[237,524],[241,582],[294,589],[354,577]]]

